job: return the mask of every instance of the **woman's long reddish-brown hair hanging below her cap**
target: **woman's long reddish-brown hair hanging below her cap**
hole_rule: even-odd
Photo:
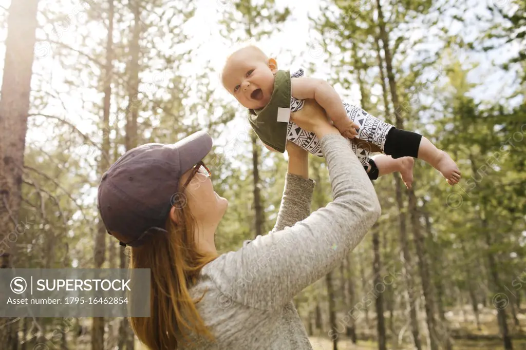
[[[189,289],[217,254],[197,251],[196,222],[187,206],[176,208],[178,223],[166,220],[168,234],[131,248],[130,269],[150,269],[150,317],[130,317],[131,328],[151,349],[177,349],[189,333],[213,339],[197,312]],[[206,291],[205,291],[206,292]]]

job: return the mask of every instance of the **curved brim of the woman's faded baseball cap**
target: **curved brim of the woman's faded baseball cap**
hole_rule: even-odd
[[[197,131],[190,136],[170,145],[179,151],[181,173],[190,170],[195,164],[208,155],[213,141],[205,131]]]

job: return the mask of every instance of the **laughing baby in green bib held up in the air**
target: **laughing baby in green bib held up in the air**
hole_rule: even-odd
[[[316,135],[290,121],[290,113],[307,106],[311,108],[312,104],[316,105],[315,101],[343,136],[362,140],[366,148],[370,144],[376,145],[385,153],[373,160],[359,142],[351,142],[371,180],[398,171],[406,187],[410,188],[413,157],[431,164],[451,186],[459,182],[461,173],[457,164],[427,138],[397,129],[359,107],[342,102],[336,90],[325,80],[303,75],[302,69],[292,75],[278,70],[274,58],[268,58],[258,47],[248,46],[228,57],[222,71],[222,84],[249,109],[252,129],[271,150],[285,152],[288,140],[313,155],[323,156]]]

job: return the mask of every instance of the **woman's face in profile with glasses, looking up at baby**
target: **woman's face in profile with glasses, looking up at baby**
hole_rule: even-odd
[[[192,170],[188,170],[181,177],[181,187],[187,182]],[[197,224],[205,227],[217,227],[228,207],[228,201],[219,197],[214,191],[208,171],[204,167],[201,166],[190,179],[183,193],[185,194],[185,204],[188,205]]]

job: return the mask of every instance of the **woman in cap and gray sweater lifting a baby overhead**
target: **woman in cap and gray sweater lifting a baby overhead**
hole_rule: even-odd
[[[201,161],[208,134],[128,151],[98,191],[108,233],[131,246],[130,268],[151,269],[150,317],[131,327],[151,349],[311,349],[292,297],[334,267],[380,215],[349,141],[323,116],[292,117],[321,140],[334,201],[312,214],[308,153],[293,144],[272,232],[218,255],[227,209]],[[174,193],[176,195],[174,195]]]

